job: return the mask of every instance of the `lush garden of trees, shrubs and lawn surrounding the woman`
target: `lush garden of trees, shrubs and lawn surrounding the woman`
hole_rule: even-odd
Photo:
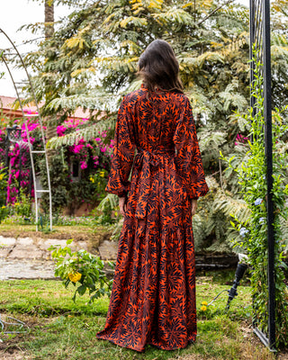
[[[0,235],[58,238],[67,244],[47,249],[57,280],[1,282],[0,320],[6,324],[14,318],[21,323],[5,325],[3,332],[0,328],[0,357],[288,358],[288,5],[284,0],[271,4],[276,355],[253,333],[255,326],[268,332],[266,124],[257,49],[253,54],[256,81],[249,84],[247,7],[214,0],[58,0],[49,6],[61,3],[71,5],[71,14],[24,57],[33,74],[36,100],[42,104],[53,229],[49,229],[47,193],[41,194],[36,219],[31,158],[29,148],[23,146],[28,135],[36,151],[42,141],[37,113],[29,107],[33,92],[28,83],[21,94],[25,119],[0,113]],[[39,24],[27,29],[44,31]],[[119,238],[118,199],[104,190],[117,109],[124,94],[139,88],[139,56],[157,38],[170,42],[179,60],[210,187],[193,217],[196,254],[236,257],[243,253],[248,270],[228,309],[227,292],[235,268],[223,273],[197,269],[195,344],[169,352],[149,346],[145,353],[136,354],[95,338],[108,311],[114,259],[99,257],[93,239],[99,245],[103,239],[115,243]],[[250,94],[257,112],[250,109]],[[76,118],[79,108],[89,114]],[[9,129],[16,129],[21,140],[8,141]],[[48,186],[45,166],[45,157],[38,154],[35,173],[43,189]],[[90,245],[87,251],[75,249],[72,240]]]

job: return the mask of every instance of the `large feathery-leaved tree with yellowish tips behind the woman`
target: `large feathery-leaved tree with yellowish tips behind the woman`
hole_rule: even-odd
[[[61,3],[76,4],[58,0]],[[36,73],[37,99],[45,101],[42,114],[49,115],[50,121],[65,120],[79,106],[91,112],[87,129],[50,139],[49,146],[59,148],[80,136],[89,139],[98,130],[113,128],[122,94],[139,87],[136,72],[143,49],[157,38],[169,41],[179,59],[185,94],[193,104],[205,174],[211,175],[213,184],[211,203],[202,202],[208,212],[200,211],[194,218],[196,242],[202,244],[201,249],[224,243],[235,235],[229,229],[229,211],[237,216],[243,212],[243,220],[248,216],[237,176],[229,169],[224,172],[225,165],[219,161],[220,150],[224,157],[234,154],[235,166],[246,153],[247,141],[235,143],[238,134],[247,137],[250,128],[245,116],[249,104],[247,8],[215,0],[197,0],[196,6],[180,0],[77,3],[76,11],[59,24],[53,37],[25,58]],[[287,14],[284,1],[275,0],[275,107],[288,98]],[[26,91],[29,94],[29,88]],[[107,118],[98,121],[93,115],[98,110],[107,112]],[[225,246],[229,248],[228,243]]]

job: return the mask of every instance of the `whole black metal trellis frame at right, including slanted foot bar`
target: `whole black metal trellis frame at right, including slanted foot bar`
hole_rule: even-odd
[[[257,61],[263,66],[264,117],[265,117],[265,146],[266,146],[266,209],[267,209],[267,246],[268,246],[268,334],[254,324],[254,332],[261,341],[273,349],[275,347],[275,231],[274,231],[274,204],[272,199],[273,188],[273,140],[272,140],[272,109],[271,109],[271,43],[270,43],[270,0],[250,0],[250,81],[255,79],[255,63],[253,58],[253,46],[257,49]],[[251,96],[253,114],[257,112],[256,99]]]

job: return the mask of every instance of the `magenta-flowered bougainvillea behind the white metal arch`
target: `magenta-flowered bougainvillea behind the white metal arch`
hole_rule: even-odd
[[[31,113],[30,111],[25,111]],[[33,149],[40,149],[40,127],[35,118],[27,118],[27,127],[30,133],[31,144]],[[88,119],[67,119],[57,127],[58,137],[66,135],[72,130],[79,130],[81,126],[85,125]],[[4,141],[5,129],[7,126],[17,125],[21,128],[23,142],[27,142],[26,129],[22,121],[9,119],[2,119],[0,122],[0,141]],[[46,127],[43,127],[44,130]],[[113,140],[108,139],[107,132],[109,130],[99,131],[98,136],[90,141],[79,139],[77,144],[66,146],[62,148],[55,156],[58,160],[53,162],[50,166],[50,178],[52,186],[52,201],[53,210],[58,211],[61,207],[68,205],[73,212],[74,208],[81,205],[81,202],[99,202],[103,199],[104,187],[106,177],[109,172]],[[10,171],[7,179],[7,203],[18,202],[19,189],[25,189],[28,194],[29,182],[31,179],[30,157],[27,147],[23,148],[22,156],[20,157],[20,148],[17,143],[9,149],[8,157],[10,159]],[[4,161],[5,151],[4,147],[0,148],[0,162]],[[40,173],[41,183],[44,188],[47,187],[47,180],[45,179],[45,164],[43,157],[36,158],[36,173]],[[21,164],[20,164],[21,161]],[[57,164],[57,166],[55,166]],[[72,167],[74,164],[79,164],[80,173],[72,174]],[[51,164],[50,164],[51,165]],[[1,168],[1,167],[0,167]],[[22,170],[20,170],[22,168]],[[73,177],[74,175],[74,177]],[[59,179],[61,177],[61,179]],[[94,178],[94,183],[89,180]],[[55,181],[53,181],[53,179]],[[31,198],[34,197],[34,189],[31,186]],[[44,210],[48,208],[45,205],[47,202],[47,194],[42,196],[42,204]],[[72,199],[74,203],[68,202]]]

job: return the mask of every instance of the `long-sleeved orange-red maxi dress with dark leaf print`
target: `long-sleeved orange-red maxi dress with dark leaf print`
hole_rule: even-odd
[[[124,97],[106,190],[129,196],[97,338],[137,351],[186,347],[197,332],[192,199],[208,186],[184,94],[142,85]]]

